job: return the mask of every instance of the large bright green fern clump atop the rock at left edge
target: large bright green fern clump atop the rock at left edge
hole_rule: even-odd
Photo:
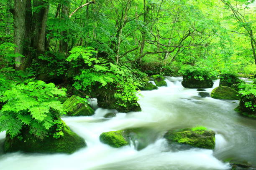
[[[11,138],[23,128],[29,128],[29,133],[41,139],[49,136],[50,131],[56,133],[54,138],[61,137],[58,117],[65,112],[57,99],[65,95],[65,89],[43,81],[29,79],[11,85],[10,90],[0,95],[0,102],[4,103],[0,110],[0,131],[6,130]]]

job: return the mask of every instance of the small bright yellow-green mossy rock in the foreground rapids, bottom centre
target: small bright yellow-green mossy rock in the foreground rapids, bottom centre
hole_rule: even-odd
[[[125,138],[124,130],[104,132],[100,135],[100,141],[114,148],[120,148],[122,146],[129,145],[128,140]]]

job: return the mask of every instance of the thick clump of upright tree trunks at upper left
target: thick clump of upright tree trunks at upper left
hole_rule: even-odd
[[[49,12],[49,4],[45,1],[34,0],[33,7],[39,7],[33,13],[31,0],[14,1],[14,43],[15,53],[20,56],[15,57],[15,68],[17,70],[26,70],[31,64],[35,54],[45,51],[46,40],[46,21]],[[33,30],[33,31],[32,31]]]

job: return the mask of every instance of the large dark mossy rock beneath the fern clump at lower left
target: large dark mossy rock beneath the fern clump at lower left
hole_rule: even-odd
[[[23,151],[25,153],[74,153],[86,146],[83,138],[72,132],[69,127],[64,124],[62,129],[64,136],[58,139],[52,136],[43,140],[36,138],[29,133],[29,130],[23,128],[21,134],[13,139],[6,133],[4,152]]]

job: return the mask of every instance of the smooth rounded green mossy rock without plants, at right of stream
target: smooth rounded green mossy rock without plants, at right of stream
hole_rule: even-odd
[[[223,100],[239,100],[239,93],[231,87],[219,86],[212,90],[211,97]]]

